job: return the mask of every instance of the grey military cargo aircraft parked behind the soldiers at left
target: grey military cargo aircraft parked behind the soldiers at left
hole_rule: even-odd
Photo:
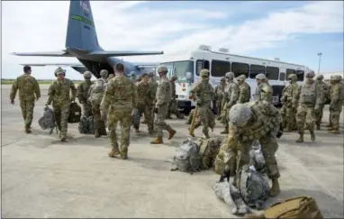
[[[95,78],[100,78],[100,71],[106,69],[113,74],[113,65],[121,62],[125,67],[125,74],[131,71],[140,73],[155,68],[158,63],[133,63],[118,59],[119,56],[160,55],[163,51],[130,51],[130,50],[103,50],[98,44],[95,32],[95,23],[89,1],[71,0],[68,15],[68,31],[66,49],[48,52],[14,52],[16,56],[40,57],[74,57],[80,63],[25,63],[29,66],[68,66],[80,73],[91,71]]]

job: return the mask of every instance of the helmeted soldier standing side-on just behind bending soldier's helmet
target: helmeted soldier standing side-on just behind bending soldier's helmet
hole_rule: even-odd
[[[228,112],[230,112],[231,106],[237,103],[239,97],[239,86],[234,82],[234,73],[227,72],[225,77],[227,79],[227,85],[224,88],[222,100],[222,123],[224,125],[224,130],[221,132],[222,134],[228,133]]]

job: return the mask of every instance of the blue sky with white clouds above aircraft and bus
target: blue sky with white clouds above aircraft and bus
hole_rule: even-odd
[[[301,64],[317,72],[343,70],[343,8],[340,1],[91,1],[95,30],[104,50],[163,50],[177,56],[200,44],[214,50]],[[68,1],[2,2],[2,78],[23,74],[20,63],[75,58],[18,57],[10,53],[64,50]],[[125,57],[159,61],[160,56]],[[57,67],[32,67],[52,79]],[[67,78],[81,79],[72,68]]]

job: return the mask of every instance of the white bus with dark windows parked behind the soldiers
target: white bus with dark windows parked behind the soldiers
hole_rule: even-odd
[[[282,90],[287,84],[289,74],[296,74],[298,83],[303,82],[304,73],[309,68],[279,61],[279,59],[258,59],[228,53],[226,49],[213,51],[211,47],[201,45],[197,50],[185,52],[177,56],[168,58],[161,62],[168,68],[168,77],[177,76],[176,94],[178,108],[186,114],[195,107],[192,96],[189,95],[190,89],[199,79],[199,72],[202,68],[207,68],[211,72],[210,82],[213,87],[217,86],[220,79],[226,72],[232,71],[235,77],[246,76],[246,81],[251,87],[251,99],[256,91],[256,75],[266,74],[269,84],[273,88],[273,104],[280,104]],[[189,73],[188,73],[189,72]],[[189,75],[189,77],[186,77]]]

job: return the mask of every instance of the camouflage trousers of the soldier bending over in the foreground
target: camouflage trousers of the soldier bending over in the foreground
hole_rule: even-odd
[[[275,153],[278,150],[278,143],[276,137],[267,134],[259,139],[261,144],[261,151],[266,160],[267,177],[276,179],[280,177],[277,166]],[[238,171],[244,165],[249,165],[250,156],[249,151],[252,149],[253,141],[236,142],[234,138],[227,140],[227,145],[223,149],[223,162],[225,169],[231,170],[231,173]]]

